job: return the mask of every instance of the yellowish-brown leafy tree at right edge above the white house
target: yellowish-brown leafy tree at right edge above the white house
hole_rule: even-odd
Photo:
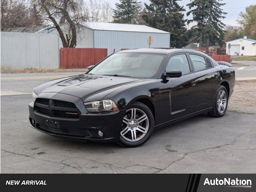
[[[256,5],[246,7],[245,13],[239,14],[238,23],[241,25],[244,35],[256,39]]]

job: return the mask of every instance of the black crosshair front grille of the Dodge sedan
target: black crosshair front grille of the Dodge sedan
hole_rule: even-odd
[[[34,111],[49,117],[78,119],[79,112],[72,102],[36,98]]]

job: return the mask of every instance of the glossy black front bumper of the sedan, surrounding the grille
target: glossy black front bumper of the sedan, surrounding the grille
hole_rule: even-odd
[[[52,136],[98,142],[118,142],[125,110],[104,113],[88,112],[80,98],[61,93],[41,93],[38,98],[74,103],[79,111],[79,119],[50,117],[40,114],[34,111],[34,102],[30,102],[28,104],[29,120],[32,128]],[[99,130],[103,133],[102,137],[98,135]]]

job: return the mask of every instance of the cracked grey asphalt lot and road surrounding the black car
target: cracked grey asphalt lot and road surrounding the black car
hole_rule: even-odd
[[[236,69],[236,75],[242,71],[249,70]],[[30,128],[32,88],[73,74],[1,74],[1,173],[256,172],[256,113],[239,108],[222,118],[202,114],[156,130],[138,148],[55,138]]]

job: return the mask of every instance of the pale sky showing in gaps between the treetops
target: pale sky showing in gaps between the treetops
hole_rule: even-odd
[[[111,4],[112,7],[114,8],[114,4],[116,2],[119,2],[119,0],[108,0]],[[146,4],[149,4],[149,0],[138,0],[141,2],[145,2]],[[178,3],[181,6],[184,6],[184,8],[186,8],[186,11],[188,11],[188,7],[186,7],[186,4],[188,4],[190,2],[190,0],[180,0],[178,1]],[[223,0],[223,3],[226,3],[226,5],[222,6],[222,9],[224,10],[224,12],[227,12],[228,14],[226,14],[226,18],[224,20],[222,20],[222,22],[226,25],[232,25],[232,26],[238,26],[238,23],[236,22],[237,18],[238,18],[238,14],[245,10],[245,8],[247,6],[250,6],[252,4],[256,4],[256,0]],[[192,16],[186,16],[185,18],[189,18],[191,19]],[[190,28],[190,27],[189,27]]]

